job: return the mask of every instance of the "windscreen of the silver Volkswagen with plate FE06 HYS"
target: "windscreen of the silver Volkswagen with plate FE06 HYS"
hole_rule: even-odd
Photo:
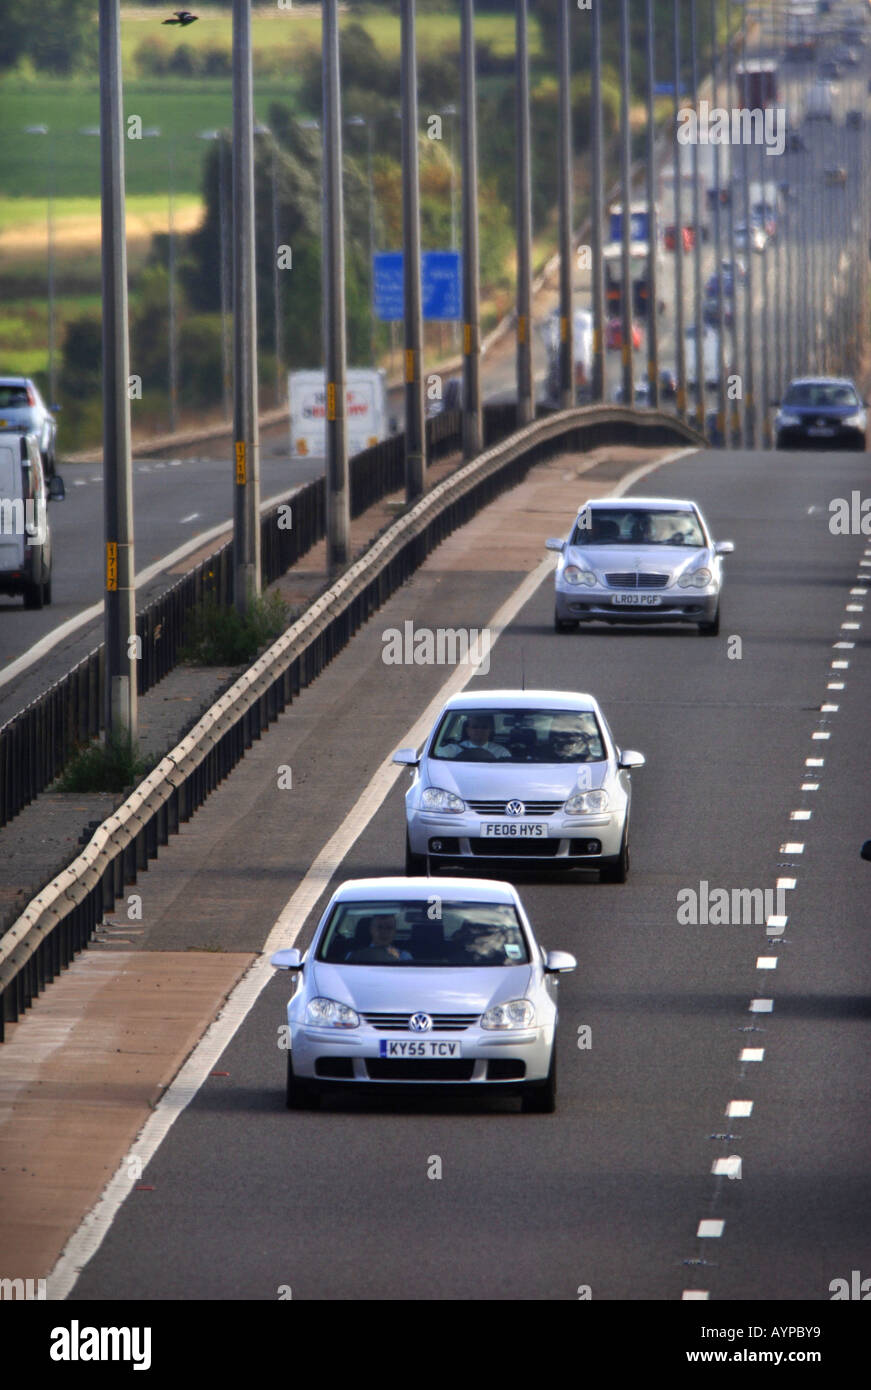
[[[592,710],[451,709],[429,758],[454,763],[596,763],[606,758]]]

